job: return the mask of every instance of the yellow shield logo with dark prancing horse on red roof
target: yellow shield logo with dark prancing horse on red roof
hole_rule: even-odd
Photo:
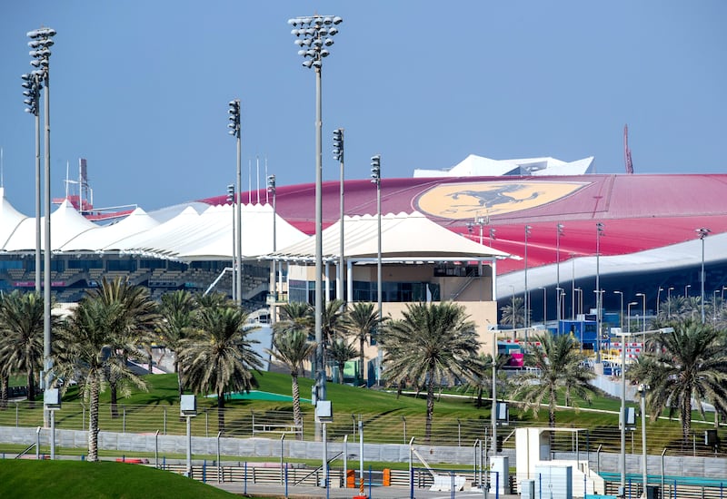
[[[581,189],[586,182],[494,181],[443,184],[424,192],[418,209],[453,220],[529,210],[558,201]]]

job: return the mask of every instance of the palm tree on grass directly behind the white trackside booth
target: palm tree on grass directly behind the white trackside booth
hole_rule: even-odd
[[[549,424],[555,426],[558,391],[565,391],[566,405],[578,407],[573,395],[590,404],[594,388],[589,381],[595,375],[585,366],[586,357],[571,335],[547,333],[536,336],[533,342],[540,343],[540,347],[533,347],[525,354],[525,364],[537,370],[516,377],[513,397],[522,400],[525,408],[532,409],[536,416],[540,406],[547,404]]]

